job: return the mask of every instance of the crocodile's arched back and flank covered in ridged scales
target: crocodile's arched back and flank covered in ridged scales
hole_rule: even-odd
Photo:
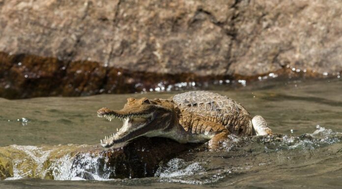
[[[199,120],[221,124],[235,135],[252,135],[249,112],[227,96],[207,91],[191,91],[177,94],[172,100],[180,110],[179,123],[185,131],[203,133],[199,128],[193,129],[194,122]]]

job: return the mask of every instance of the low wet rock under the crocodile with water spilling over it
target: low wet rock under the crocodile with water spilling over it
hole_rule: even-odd
[[[96,145],[0,148],[0,179],[106,180],[153,176],[159,163],[194,147],[166,138],[140,137],[127,146],[104,150]]]

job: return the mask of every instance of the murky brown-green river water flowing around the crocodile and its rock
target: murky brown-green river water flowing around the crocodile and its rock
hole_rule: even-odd
[[[256,81],[209,89],[235,99],[252,115],[262,115],[283,135],[231,136],[220,151],[190,150],[149,178],[106,180],[95,175],[94,180],[81,180],[70,171],[63,175],[69,165],[61,162],[56,180],[28,178],[14,170],[15,177],[0,181],[0,188],[342,188],[341,79]],[[97,144],[122,125],[97,118],[97,109],[120,109],[128,97],[168,98],[179,92],[0,99],[0,151],[16,148],[38,153],[39,159],[46,152],[38,152],[43,146]]]

